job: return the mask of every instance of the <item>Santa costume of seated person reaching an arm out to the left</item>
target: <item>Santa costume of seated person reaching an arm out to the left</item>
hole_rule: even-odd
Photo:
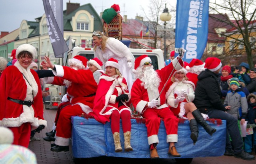
[[[55,77],[48,77],[46,83],[54,85],[66,85],[68,101],[67,105],[60,112],[58,124],[56,127],[56,146],[52,151],[68,151],[69,139],[71,137],[71,117],[90,113],[93,108],[93,101],[97,90],[97,83],[93,77],[92,71],[85,70],[87,59],[83,56],[76,55],[69,59],[70,66],[75,65],[78,70],[71,67],[54,65],[52,70]],[[64,147],[60,147],[64,146]]]

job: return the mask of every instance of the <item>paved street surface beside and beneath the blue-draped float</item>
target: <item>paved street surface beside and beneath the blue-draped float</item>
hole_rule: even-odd
[[[176,164],[174,159],[130,159],[130,158],[114,158],[114,157],[100,157],[90,159],[76,159],[73,160],[72,148],[70,144],[69,152],[52,152],[50,151],[50,144],[54,142],[46,142],[43,138],[46,136],[46,132],[52,130],[55,115],[57,109],[44,110],[44,119],[47,121],[47,128],[43,129],[39,134],[35,136],[41,138],[40,141],[30,142],[28,148],[36,154],[38,164],[98,164],[104,162],[104,164],[113,163],[147,163],[147,164]],[[74,162],[75,161],[75,162]],[[218,157],[200,157],[194,158],[190,164],[256,164],[256,160],[246,161],[230,156],[218,156]]]

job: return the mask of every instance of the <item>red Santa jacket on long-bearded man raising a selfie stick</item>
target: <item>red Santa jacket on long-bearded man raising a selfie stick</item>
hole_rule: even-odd
[[[177,65],[176,65],[177,63]],[[175,69],[174,66],[176,65]],[[145,89],[144,86],[141,86],[142,81],[140,79],[136,79],[134,84],[132,85],[132,90],[131,90],[131,97],[132,97],[132,105],[136,109],[138,113],[143,113],[143,110],[145,109],[145,106],[148,102],[150,102],[152,99],[156,99],[161,92],[161,90],[164,87],[164,84],[168,80],[168,77],[172,73],[172,70],[174,69],[173,73],[177,70],[180,70],[183,68],[183,61],[182,59],[179,60],[178,62],[178,57],[176,57],[172,63],[167,65],[166,67],[156,70],[158,73],[158,76],[161,79],[160,85],[158,87],[158,93],[151,91],[150,89]],[[158,109],[168,107],[165,103],[165,91],[163,91],[158,99]]]

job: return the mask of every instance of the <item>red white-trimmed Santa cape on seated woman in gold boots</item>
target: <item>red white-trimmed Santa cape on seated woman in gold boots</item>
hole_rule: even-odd
[[[106,115],[111,115],[113,110],[107,112],[105,110],[107,107],[117,109],[118,102],[116,102],[116,97],[122,94],[128,95],[129,99],[122,103],[130,109],[130,93],[124,77],[118,76],[117,78],[114,78],[106,74],[101,75],[98,90],[94,99],[93,113],[90,114],[100,123],[105,124],[106,121],[110,121],[109,116]]]

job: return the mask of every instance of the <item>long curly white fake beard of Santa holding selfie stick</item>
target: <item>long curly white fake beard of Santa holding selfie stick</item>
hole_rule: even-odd
[[[138,78],[142,81],[141,86],[144,86],[145,89],[154,90],[154,88],[158,88],[161,82],[160,77],[154,70],[154,67],[140,67],[137,69]]]

